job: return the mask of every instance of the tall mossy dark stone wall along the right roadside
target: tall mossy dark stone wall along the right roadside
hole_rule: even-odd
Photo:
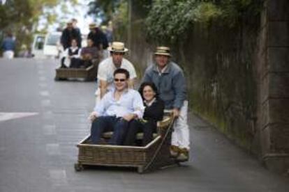
[[[289,168],[288,3],[267,0],[262,14],[244,15],[233,28],[195,24],[170,45],[186,75],[191,110],[279,173]],[[156,45],[145,39],[139,8],[131,6],[126,45],[142,77]]]

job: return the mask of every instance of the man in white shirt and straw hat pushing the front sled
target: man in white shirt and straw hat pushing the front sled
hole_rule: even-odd
[[[98,88],[96,90],[96,104],[99,103],[103,95],[114,87],[113,73],[114,70],[119,68],[126,69],[129,72],[128,87],[133,88],[134,81],[137,77],[135,73],[135,67],[133,64],[124,58],[124,54],[128,49],[124,47],[123,42],[112,42],[112,46],[108,47],[110,51],[110,57],[103,60],[98,65]]]

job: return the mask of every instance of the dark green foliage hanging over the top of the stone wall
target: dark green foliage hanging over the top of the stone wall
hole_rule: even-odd
[[[261,0],[156,0],[146,18],[147,38],[176,42],[193,24],[212,20],[228,26],[237,24],[244,13],[258,12]]]

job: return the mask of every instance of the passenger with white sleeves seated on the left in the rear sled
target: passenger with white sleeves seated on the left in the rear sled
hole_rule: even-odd
[[[61,68],[79,68],[81,65],[80,60],[81,48],[77,47],[77,40],[71,40],[71,47],[64,51],[61,58]]]

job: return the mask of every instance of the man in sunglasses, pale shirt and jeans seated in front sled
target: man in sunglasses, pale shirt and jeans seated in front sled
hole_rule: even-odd
[[[91,125],[91,142],[101,143],[104,131],[114,131],[108,142],[121,145],[133,119],[142,118],[144,105],[138,91],[128,88],[129,73],[125,69],[114,71],[114,89],[106,93],[89,115]]]

